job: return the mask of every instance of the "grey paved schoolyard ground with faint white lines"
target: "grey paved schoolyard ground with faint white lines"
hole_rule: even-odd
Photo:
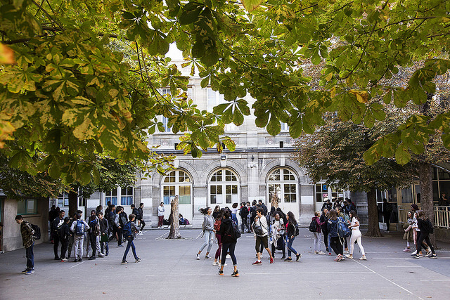
[[[165,240],[168,230],[148,230],[135,241],[142,261],[120,264],[124,248],[110,243],[110,255],[95,261],[53,261],[53,245],[34,249],[36,273],[23,275],[25,249],[0,254],[0,299],[449,299],[450,244],[438,243],[438,259],[412,259],[402,252],[406,242],[400,233],[387,237],[363,237],[367,261],[336,263],[333,256],[312,254],[312,238],[306,228],[294,242],[302,254],[298,262],[281,261],[276,253],[269,264],[255,261],[255,240],[244,234],[236,256],[239,278],[231,277],[232,263],[224,276],[217,275],[212,260],[195,259],[203,239],[201,230],[183,229],[186,240]],[[217,244],[212,247],[212,254]],[[219,293],[219,295],[217,295]]]

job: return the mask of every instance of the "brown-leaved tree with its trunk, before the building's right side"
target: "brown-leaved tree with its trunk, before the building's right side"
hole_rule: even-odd
[[[298,141],[295,158],[308,169],[311,181],[326,178],[326,183],[352,192],[364,191],[368,202],[368,236],[382,236],[378,226],[376,189],[386,190],[413,181],[413,168],[401,166],[393,159],[379,159],[371,166],[364,163],[363,154],[384,133],[395,128],[391,122],[379,122],[372,129],[342,122],[330,115],[315,133]]]

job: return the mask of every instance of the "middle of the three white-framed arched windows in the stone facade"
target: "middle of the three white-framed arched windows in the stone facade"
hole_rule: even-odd
[[[238,176],[229,169],[219,169],[212,174],[208,183],[210,204],[239,202]]]

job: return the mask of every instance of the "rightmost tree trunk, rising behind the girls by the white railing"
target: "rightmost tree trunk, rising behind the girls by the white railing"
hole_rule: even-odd
[[[419,162],[420,181],[420,209],[425,216],[435,225],[435,212],[433,208],[432,167],[426,162]],[[436,245],[435,235],[430,235],[430,242]]]

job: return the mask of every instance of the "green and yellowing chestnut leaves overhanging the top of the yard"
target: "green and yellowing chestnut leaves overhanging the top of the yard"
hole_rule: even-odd
[[[15,56],[0,70],[1,151],[13,167],[86,183],[98,177],[98,153],[148,159],[158,116],[186,132],[179,147],[194,157],[222,143],[233,150],[223,125],[242,124],[248,94],[257,126],[273,135],[281,122],[293,138],[312,133],[326,112],[372,127],[385,119],[383,105],[420,105],[435,93],[450,67],[449,8],[444,0],[1,0],[1,53],[6,45]],[[228,105],[210,114],[187,99],[188,78],[165,58],[172,43]],[[319,88],[304,60],[323,63]],[[407,84],[388,83],[419,60]],[[435,131],[449,147],[449,121],[450,112],[413,115],[366,159],[406,164],[405,153],[420,152]]]

